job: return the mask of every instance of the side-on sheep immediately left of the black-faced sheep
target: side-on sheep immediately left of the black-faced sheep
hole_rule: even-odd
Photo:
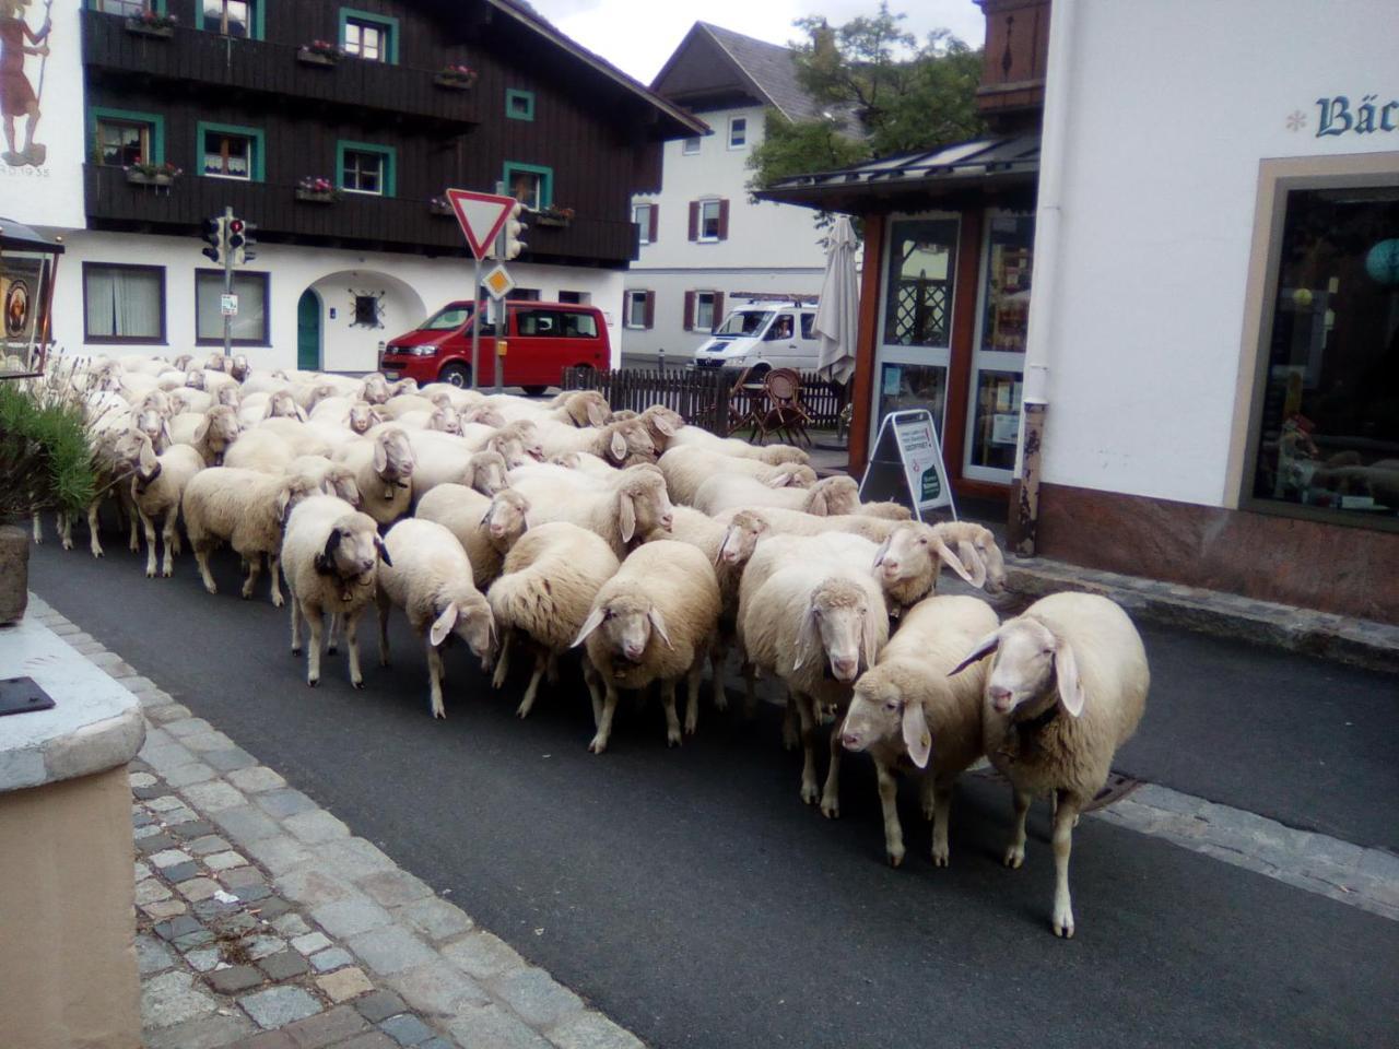
[[[277,558],[281,526],[288,511],[313,492],[319,492],[319,488],[304,477],[280,477],[231,466],[210,467],[194,474],[185,485],[180,506],[204,589],[218,593],[218,585],[208,571],[208,554],[220,543],[228,543],[248,564],[243,600],[252,597],[262,573],[262,558],[266,557],[271,576],[271,603],[280,608],[283,599],[277,583]]]

